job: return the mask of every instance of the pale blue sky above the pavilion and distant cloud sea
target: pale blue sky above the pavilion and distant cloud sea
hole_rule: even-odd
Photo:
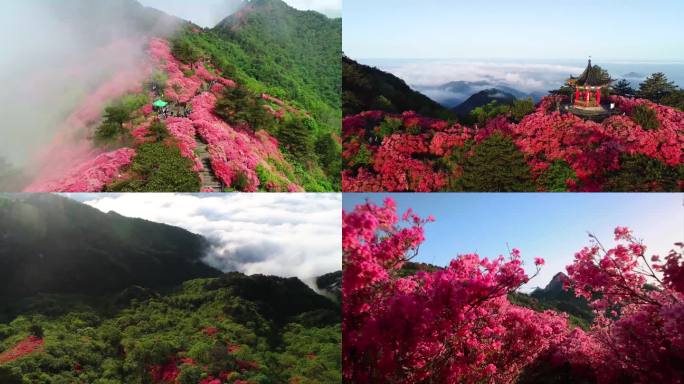
[[[344,0],[363,58],[682,60],[681,0]]]

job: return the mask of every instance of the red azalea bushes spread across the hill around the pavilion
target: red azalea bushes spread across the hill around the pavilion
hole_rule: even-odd
[[[681,174],[684,169],[684,112],[647,100],[611,97],[624,115],[596,123],[558,112],[561,100],[561,96],[544,98],[519,123],[498,116],[477,129],[413,112],[370,111],[345,117],[343,188],[350,192],[459,190],[455,180],[462,177],[468,161],[482,152],[478,148],[494,135],[513,142],[518,153],[513,156],[527,163],[534,189],[539,191],[614,189],[609,179],[627,168],[623,159],[628,156],[653,159],[668,173]],[[388,125],[388,121],[398,124]],[[494,163],[490,168],[475,177],[509,171]],[[558,179],[561,176],[565,178]],[[622,179],[622,183],[629,180]],[[528,188],[517,181],[491,185],[482,190]],[[673,185],[669,179],[643,176],[632,187],[682,190],[684,179]]]

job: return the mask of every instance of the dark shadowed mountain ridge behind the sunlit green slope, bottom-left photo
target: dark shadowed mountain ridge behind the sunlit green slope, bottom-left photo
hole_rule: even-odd
[[[0,297],[164,287],[219,271],[184,229],[51,194],[0,195]]]

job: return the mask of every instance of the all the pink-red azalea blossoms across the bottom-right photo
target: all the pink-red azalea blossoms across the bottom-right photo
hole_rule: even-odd
[[[592,236],[562,281],[594,311],[583,329],[509,301],[530,279],[516,249],[404,268],[432,220],[399,216],[391,199],[343,212],[346,382],[682,382],[684,244],[661,258],[624,227],[612,248]]]

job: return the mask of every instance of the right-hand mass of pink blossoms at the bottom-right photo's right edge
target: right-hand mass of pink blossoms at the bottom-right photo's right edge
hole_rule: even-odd
[[[567,284],[596,309],[592,332],[559,347],[556,359],[589,368],[600,383],[681,383],[684,367],[682,244],[659,262],[626,228],[604,249],[594,239],[567,267]],[[645,285],[648,283],[648,285]]]

